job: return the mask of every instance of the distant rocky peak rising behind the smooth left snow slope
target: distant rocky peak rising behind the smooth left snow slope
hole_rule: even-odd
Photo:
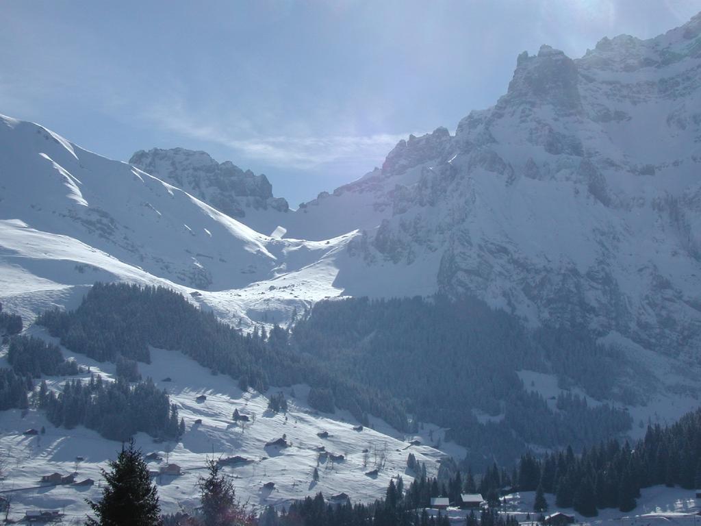
[[[265,175],[241,170],[231,161],[217,163],[204,151],[141,150],[129,163],[265,234],[278,227],[290,210],[285,199],[273,197],[273,186]]]

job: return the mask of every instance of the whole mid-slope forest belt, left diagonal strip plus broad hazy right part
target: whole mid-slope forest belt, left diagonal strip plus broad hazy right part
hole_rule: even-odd
[[[475,299],[322,302],[292,335],[278,327],[245,335],[172,290],[97,283],[78,309],[47,311],[38,323],[72,351],[116,361],[127,379],[138,378],[134,360],[148,362],[155,346],[243,388],[309,384],[318,410],[346,408],[362,422],[374,414],[405,431],[439,424],[469,446],[475,468],[493,455],[512,462],[529,445],[580,449],[631,426],[627,412],[567,391],[549,405],[517,375],[552,372],[564,388],[625,400],[634,393],[617,387],[629,365],[622,353],[573,332],[527,330]]]

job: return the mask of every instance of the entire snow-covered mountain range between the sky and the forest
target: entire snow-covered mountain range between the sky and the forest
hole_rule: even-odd
[[[8,308],[135,281],[250,327],[324,297],[467,292],[531,325],[593,330],[648,365],[696,360],[701,15],[577,60],[522,53],[508,92],[454,135],[410,136],[294,212],[264,176],[203,152],[131,162],[0,120]]]

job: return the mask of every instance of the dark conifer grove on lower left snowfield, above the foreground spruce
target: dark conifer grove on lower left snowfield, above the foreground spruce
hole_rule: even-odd
[[[77,379],[66,382],[60,393],[50,391],[43,381],[38,402],[55,426],[72,429],[82,424],[111,440],[128,440],[138,431],[177,438],[185,431],[177,407],[150,378],[131,386],[123,379],[105,382],[93,375],[85,383]]]

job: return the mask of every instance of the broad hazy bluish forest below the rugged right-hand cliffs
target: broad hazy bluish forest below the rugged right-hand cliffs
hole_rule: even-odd
[[[529,443],[579,449],[632,424],[626,412],[578,396],[558,400],[554,411],[517,375],[546,372],[563,388],[629,399],[632,393],[612,387],[627,367],[620,351],[571,330],[526,330],[477,299],[319,302],[294,326],[291,343],[337,375],[402,400],[419,422],[450,428],[448,438],[470,445],[476,467],[492,455],[510,464]],[[318,394],[327,405],[328,396]]]

